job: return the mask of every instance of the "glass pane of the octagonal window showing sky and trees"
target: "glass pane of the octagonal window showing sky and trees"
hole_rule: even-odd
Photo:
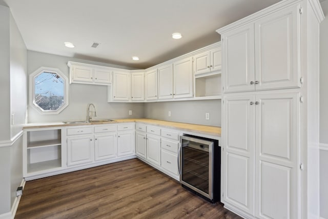
[[[65,81],[56,73],[42,72],[34,79],[35,104],[44,111],[64,104]]]

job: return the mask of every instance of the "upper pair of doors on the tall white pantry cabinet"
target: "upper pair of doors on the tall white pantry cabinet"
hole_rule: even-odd
[[[296,5],[222,33],[224,92],[300,87],[299,37]]]

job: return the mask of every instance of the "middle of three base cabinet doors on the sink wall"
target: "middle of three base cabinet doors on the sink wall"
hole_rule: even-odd
[[[94,157],[96,161],[116,157],[116,134],[97,134],[94,136]]]

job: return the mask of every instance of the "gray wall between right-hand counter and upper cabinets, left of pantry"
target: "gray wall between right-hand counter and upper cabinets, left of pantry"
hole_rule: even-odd
[[[169,117],[171,111],[171,117]],[[210,120],[205,120],[205,113],[210,113]],[[209,126],[221,126],[221,101],[177,101],[145,104],[145,116],[157,120],[181,123],[194,123]]]

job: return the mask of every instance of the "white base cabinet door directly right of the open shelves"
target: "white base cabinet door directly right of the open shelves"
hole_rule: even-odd
[[[67,166],[93,162],[93,136],[67,138]]]

